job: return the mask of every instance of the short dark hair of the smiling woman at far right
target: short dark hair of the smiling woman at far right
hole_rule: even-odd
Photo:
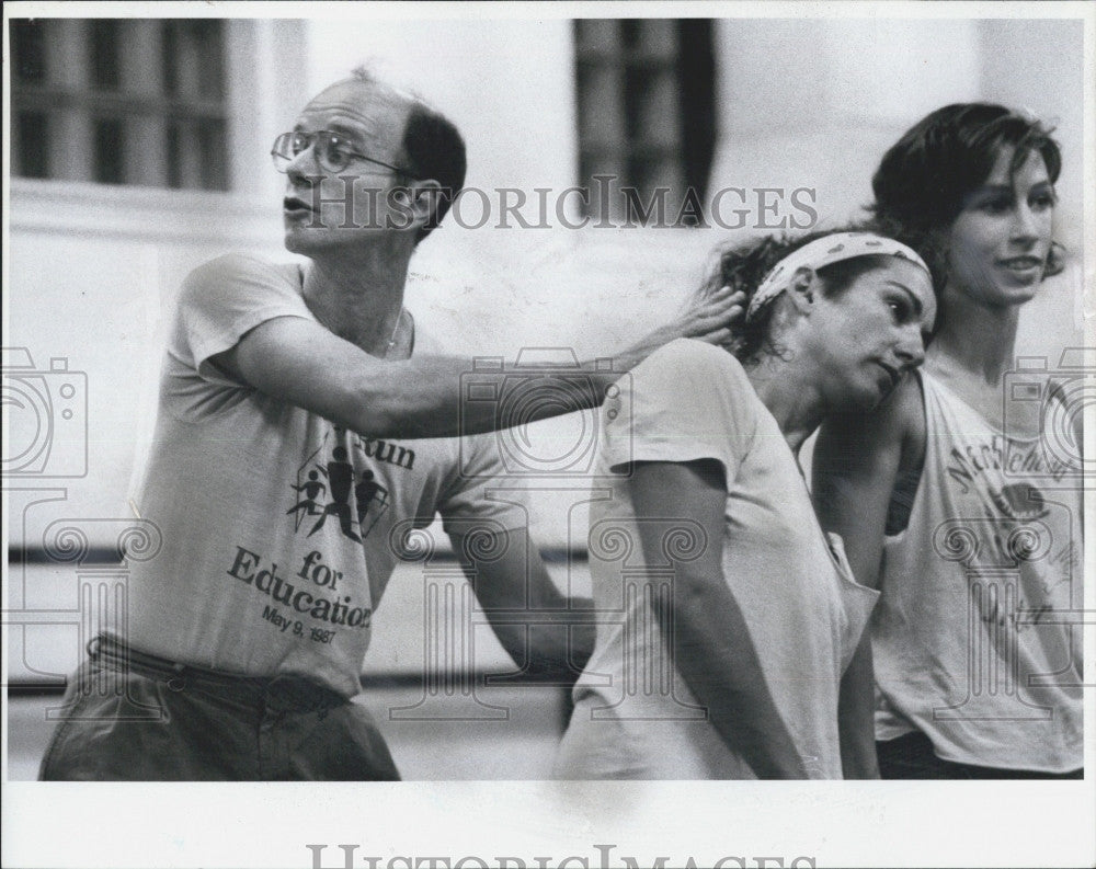
[[[1047,164],[1051,183],[1058,181],[1062,152],[1051,133],[1003,105],[955,103],[937,108],[883,155],[871,179],[874,225],[887,235],[897,231],[939,245],[967,197],[990,176],[1002,148],[1014,149],[1011,172],[1035,152]],[[1061,244],[1051,245],[1046,275],[1062,271],[1064,253]]]

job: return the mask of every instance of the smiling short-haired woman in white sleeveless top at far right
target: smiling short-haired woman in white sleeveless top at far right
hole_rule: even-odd
[[[1046,371],[1011,374],[1020,311],[1061,268],[1060,170],[1039,122],[966,103],[912,127],[872,181],[876,225],[947,260],[924,366],[829,420],[814,454],[823,525],[881,592],[859,714],[884,778],[1082,775],[1082,487],[1046,427],[1076,409]]]

